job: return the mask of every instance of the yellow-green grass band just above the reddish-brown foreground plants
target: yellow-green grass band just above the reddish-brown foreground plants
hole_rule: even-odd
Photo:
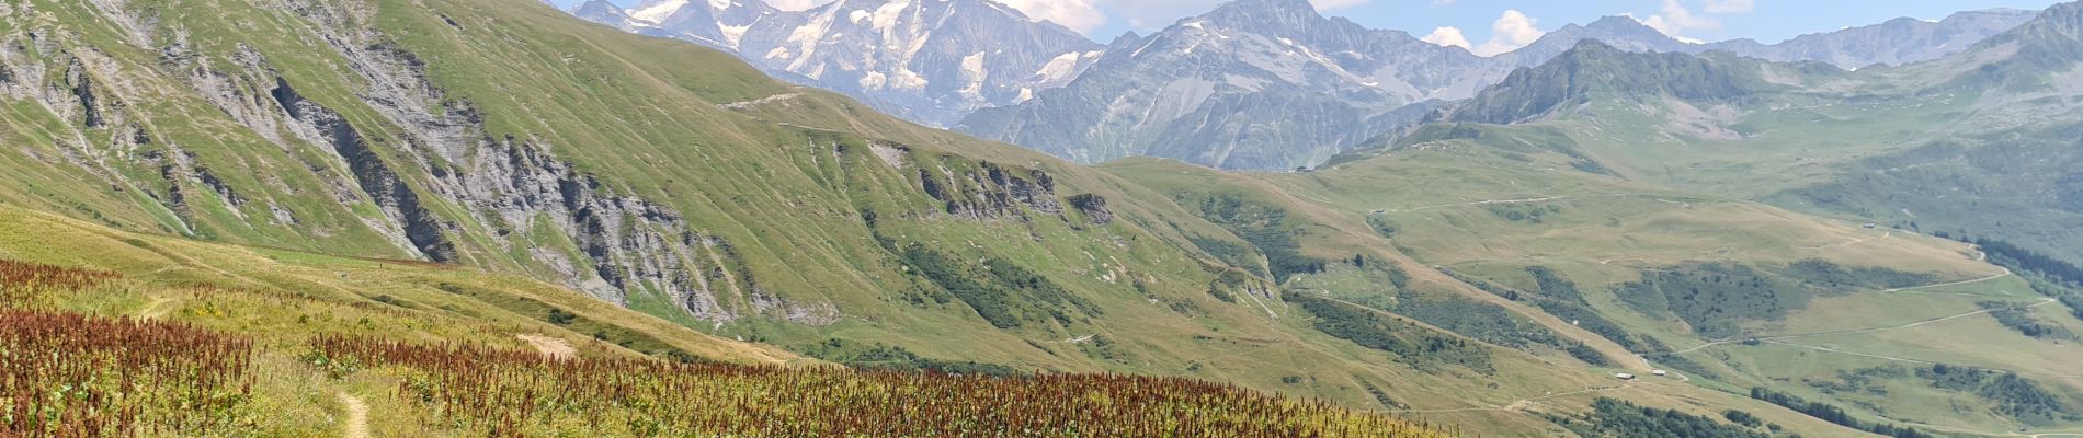
[[[337,330],[519,349],[525,343],[515,334],[544,334],[579,347],[581,355],[677,349],[719,361],[819,363],[767,345],[700,334],[654,316],[587,299],[571,289],[510,274],[135,235],[12,206],[0,206],[0,222],[8,224],[6,232],[0,232],[0,257],[110,270],[137,282],[135,289],[117,295],[65,303],[87,313],[167,316],[204,328],[279,334],[275,345],[302,343],[306,336]],[[235,297],[231,299],[235,305],[223,305],[208,293],[183,291],[200,284],[233,291],[229,295]],[[377,297],[394,303],[381,303]],[[202,307],[225,309],[212,313],[200,311]],[[577,322],[550,324],[546,322],[550,309],[569,311]],[[348,324],[352,316],[371,313],[381,313],[385,320]],[[337,326],[310,326],[298,322],[298,316]],[[594,332],[612,336],[608,343],[596,343]],[[631,347],[614,345],[625,340]]]

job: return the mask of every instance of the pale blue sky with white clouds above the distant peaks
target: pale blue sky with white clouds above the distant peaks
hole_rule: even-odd
[[[573,4],[577,0],[554,0]],[[633,6],[637,0],[614,0]],[[756,2],[756,0],[739,0]],[[808,8],[829,0],[769,0]],[[1150,31],[1206,12],[1223,0],[1000,0],[1031,17],[1069,25],[1098,42]],[[1568,23],[1631,15],[1683,39],[1752,37],[1781,42],[1802,33],[1873,25],[1896,17],[1943,19],[1958,10],[2046,8],[2054,0],[1312,0],[1319,10],[1375,29],[1402,29],[1429,42],[1502,52]],[[1444,29],[1441,29],[1444,27]],[[1456,37],[1458,35],[1458,37]]]

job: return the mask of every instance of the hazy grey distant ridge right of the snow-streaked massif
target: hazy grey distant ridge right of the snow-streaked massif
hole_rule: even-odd
[[[1873,52],[1875,56],[1852,56],[1850,60],[1839,52],[1827,52],[1829,56],[1825,56],[1814,50],[1791,50],[1793,46],[1843,44],[1837,39],[1862,39],[1879,46],[1916,46],[1929,42],[1883,35],[1885,29],[1868,27],[1818,33],[1821,37],[1810,35],[1808,39],[1775,46],[1741,42],[1685,44],[1635,19],[1604,17],[1587,25],[1560,27],[1525,48],[1481,58],[1462,48],[1439,48],[1416,42],[1402,31],[1364,29],[1344,19],[1325,19],[1312,8],[1289,6],[1285,8],[1287,12],[1281,12],[1279,4],[1229,2],[1208,15],[1181,19],[1158,33],[1137,39],[1139,48],[1152,48],[1152,44],[1160,42],[1210,44],[1212,48],[1237,50],[1231,58],[1244,62],[1225,64],[1181,56],[1133,56],[1141,50],[1133,50],[1131,56],[1123,58],[1119,52],[1127,48],[1116,48],[1114,56],[1104,56],[1079,81],[1066,87],[1039,91],[1035,100],[1012,106],[981,108],[954,129],[985,139],[1029,145],[1077,162],[1104,162],[1148,154],[1219,168],[1291,170],[1310,168],[1331,156],[1375,145],[1379,137],[1394,135],[1419,120],[1419,116],[1410,114],[1423,114],[1433,106],[1423,102],[1475,98],[1483,87],[1504,81],[1514,69],[1544,64],[1581,39],[1600,39],[1633,52],[1702,54],[1725,50],[1773,60],[1831,60],[1839,64],[1925,60],[1950,54],[1943,44],[1939,50],[1902,54],[1898,54],[1900,50],[1877,50]],[[1962,27],[1962,31],[1954,31],[1960,35],[1956,39],[1977,39],[2006,29],[2006,23],[2023,19],[2029,19],[2029,15],[2018,10],[1962,12],[1941,23],[1918,21],[1910,33]],[[1204,21],[1216,21],[1227,25],[1225,29],[1281,44],[1233,48],[1227,33],[1206,35],[1206,29],[1200,27]],[[1371,44],[1339,46],[1344,42],[1366,39],[1358,35],[1371,35],[1373,39],[1369,39]],[[1862,37],[1814,42],[1829,39],[1831,35]],[[1312,42],[1312,37],[1319,42]],[[1952,48],[1964,46],[1954,44]],[[1302,58],[1302,62],[1279,62],[1281,58]],[[1308,73],[1312,75],[1310,79],[1264,75],[1294,69],[1294,64],[1312,69],[1312,62],[1325,73]],[[1179,71],[1200,77],[1194,83],[1169,81],[1169,75]],[[1246,85],[1225,89],[1225,83]],[[1148,91],[1139,89],[1171,89],[1166,93],[1177,98],[1144,95]],[[1281,110],[1237,110],[1269,106],[1279,106]]]

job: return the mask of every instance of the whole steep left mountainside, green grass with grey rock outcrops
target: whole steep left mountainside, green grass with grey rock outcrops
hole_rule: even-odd
[[[762,361],[860,369],[1185,376],[1358,409],[1456,409],[1425,419],[1475,434],[1531,434],[1548,421],[1487,407],[1602,380],[1554,365],[1568,357],[1558,351],[1289,303],[1266,270],[1283,259],[1169,195],[531,0],[27,0],[0,15],[0,208],[544,289],[508,299],[515,280],[433,293],[377,278],[344,289],[415,293],[337,297],[348,303],[498,301],[569,324],[569,338],[621,343],[629,328],[571,307],[589,295],[671,322],[621,349],[667,361],[739,357],[687,345],[714,336],[762,345],[733,347]],[[19,218],[10,228],[33,216]],[[100,266],[29,237],[0,251]],[[183,272],[152,264],[121,272]],[[237,278],[187,280],[223,276]],[[379,336],[512,347],[510,332]],[[1439,349],[1462,359],[1437,361]]]

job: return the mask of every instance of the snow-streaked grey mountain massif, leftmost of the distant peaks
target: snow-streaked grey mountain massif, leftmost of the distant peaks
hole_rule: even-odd
[[[627,10],[594,0],[573,15],[727,50],[775,77],[937,127],[1060,87],[1100,56],[1083,35],[992,0],[844,0],[800,12],[758,0]]]

